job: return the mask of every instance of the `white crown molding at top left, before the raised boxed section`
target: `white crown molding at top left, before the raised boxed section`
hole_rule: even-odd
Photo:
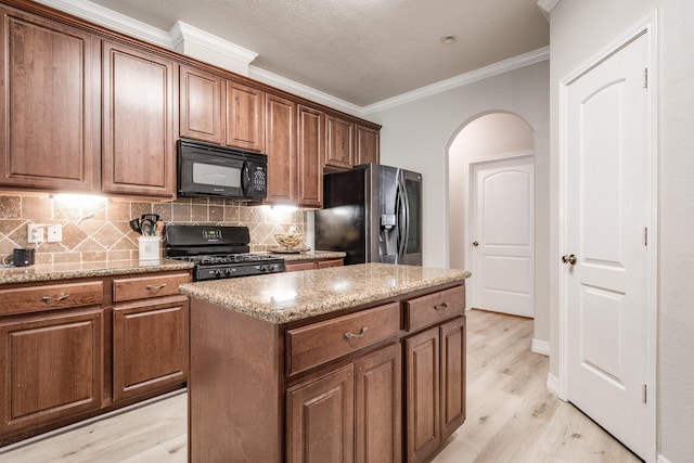
[[[35,0],[90,23],[107,27],[155,46],[174,49],[170,36],[162,29],[86,0]]]

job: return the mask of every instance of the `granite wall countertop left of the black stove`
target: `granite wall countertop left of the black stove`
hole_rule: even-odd
[[[94,260],[68,263],[39,263],[29,267],[0,266],[0,285],[76,278],[150,273],[167,270],[189,270],[192,268],[192,262],[183,262],[181,260],[172,259],[153,261]]]

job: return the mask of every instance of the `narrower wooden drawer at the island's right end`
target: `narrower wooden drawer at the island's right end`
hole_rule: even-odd
[[[404,329],[421,327],[465,312],[465,286],[455,286],[404,303]]]

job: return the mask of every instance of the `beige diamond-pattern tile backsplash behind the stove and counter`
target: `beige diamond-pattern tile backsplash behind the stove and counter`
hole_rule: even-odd
[[[130,229],[128,221],[146,213],[158,214],[167,224],[248,227],[252,252],[277,246],[274,233],[286,232],[290,227],[296,227],[300,233],[306,230],[304,210],[247,206],[229,200],[140,203],[108,198],[89,204],[83,200],[62,202],[51,195],[0,195],[0,258],[11,255],[15,247],[35,247],[36,263],[137,259],[139,234]],[[30,244],[28,223],[60,223],[63,241]]]

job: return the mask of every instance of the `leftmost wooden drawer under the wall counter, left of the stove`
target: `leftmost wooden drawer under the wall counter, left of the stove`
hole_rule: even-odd
[[[100,281],[0,290],[0,316],[100,305],[102,298]]]

